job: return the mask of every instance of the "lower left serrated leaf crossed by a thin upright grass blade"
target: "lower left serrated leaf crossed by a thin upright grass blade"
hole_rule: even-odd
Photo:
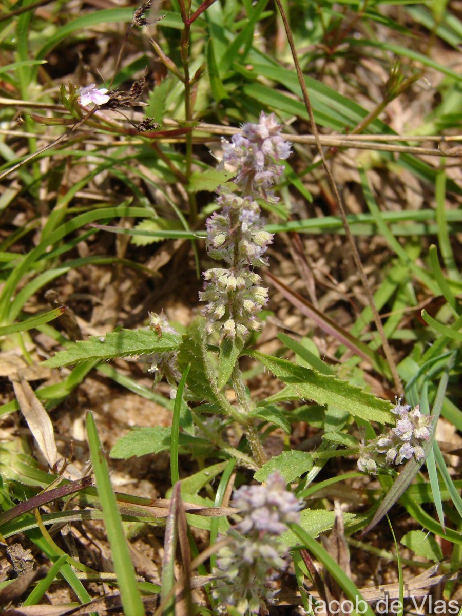
[[[121,439],[111,449],[111,458],[127,460],[132,456],[145,456],[148,453],[166,452],[170,449],[171,428],[154,426],[153,428],[135,428]],[[213,447],[205,439],[179,433],[180,453],[193,453],[194,455],[209,455]]]

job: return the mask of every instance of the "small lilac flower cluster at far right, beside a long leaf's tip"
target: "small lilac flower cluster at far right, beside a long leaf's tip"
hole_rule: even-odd
[[[367,445],[362,446],[358,460],[361,471],[375,473],[378,464],[401,464],[413,456],[417,461],[425,457],[423,445],[430,438],[432,418],[422,415],[419,405],[411,410],[410,405],[397,400],[392,412],[397,416],[395,427]]]

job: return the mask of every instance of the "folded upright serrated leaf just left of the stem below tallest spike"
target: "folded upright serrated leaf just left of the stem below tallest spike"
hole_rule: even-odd
[[[205,318],[197,317],[188,327],[178,354],[180,370],[191,363],[187,386],[199,400],[220,405],[218,387],[210,360],[207,356]]]

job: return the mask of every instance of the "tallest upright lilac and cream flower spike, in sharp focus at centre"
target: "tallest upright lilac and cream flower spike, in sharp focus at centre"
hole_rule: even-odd
[[[219,187],[219,211],[207,221],[206,248],[213,259],[224,261],[204,273],[205,290],[200,300],[208,302],[203,313],[209,331],[221,331],[221,338],[245,338],[261,323],[257,315],[268,301],[268,290],[254,267],[267,265],[263,256],[272,242],[256,199],[276,203],[270,188],[281,176],[279,161],[290,155],[290,144],[280,136],[281,126],[274,114],[260,116],[259,124],[244,124],[231,142],[223,140],[221,166],[231,166],[234,192]]]

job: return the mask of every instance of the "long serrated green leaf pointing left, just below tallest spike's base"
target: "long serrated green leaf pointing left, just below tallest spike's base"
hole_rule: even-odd
[[[165,353],[176,351],[180,342],[179,335],[168,332],[159,336],[152,330],[113,331],[105,336],[92,336],[88,340],[79,340],[65,351],[59,351],[54,357],[47,359],[43,365],[48,368],[59,368],[91,359],[105,362],[115,357]]]

